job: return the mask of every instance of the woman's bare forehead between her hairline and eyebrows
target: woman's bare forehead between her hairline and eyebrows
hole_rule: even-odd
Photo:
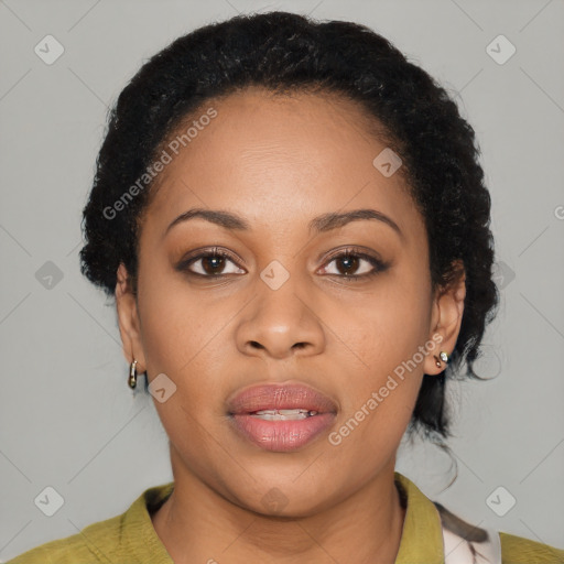
[[[199,119],[210,111],[213,119]],[[171,161],[150,215],[172,220],[197,205],[272,226],[371,206],[398,224],[410,214],[417,220],[401,167],[389,177],[375,167],[387,150],[377,126],[359,104],[335,95],[253,87],[212,99],[163,143]]]

